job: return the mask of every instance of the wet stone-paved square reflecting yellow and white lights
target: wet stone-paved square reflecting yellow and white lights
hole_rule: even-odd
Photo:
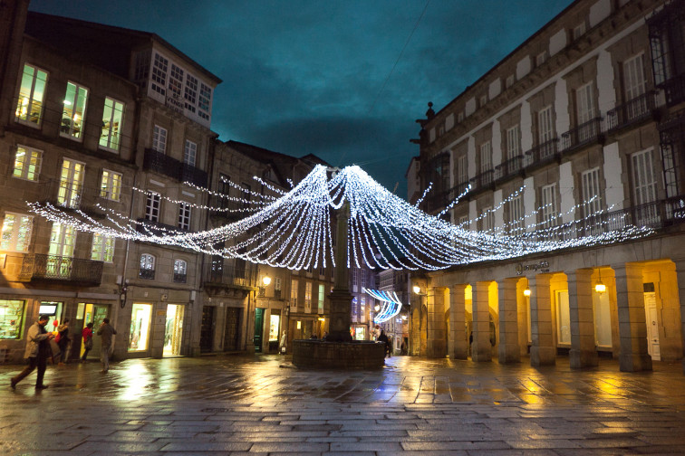
[[[396,356],[380,371],[278,356],[0,366],[0,453],[14,455],[605,455],[685,453],[679,364],[621,373]]]

